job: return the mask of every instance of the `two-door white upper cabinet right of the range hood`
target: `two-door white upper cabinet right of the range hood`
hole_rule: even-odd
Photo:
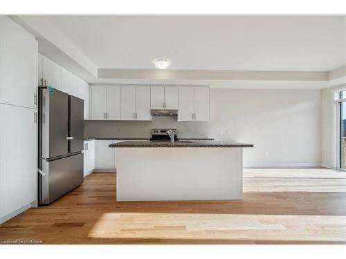
[[[179,86],[178,121],[208,122],[209,87]]]

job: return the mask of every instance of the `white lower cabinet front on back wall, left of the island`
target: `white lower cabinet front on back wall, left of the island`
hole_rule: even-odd
[[[96,140],[96,169],[115,169],[113,140]]]

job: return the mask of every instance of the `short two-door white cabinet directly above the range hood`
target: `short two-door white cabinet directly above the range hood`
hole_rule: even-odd
[[[178,86],[152,86],[151,108],[176,110],[178,108]]]

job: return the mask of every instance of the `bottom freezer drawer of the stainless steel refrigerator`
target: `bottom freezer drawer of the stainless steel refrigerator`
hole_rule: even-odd
[[[49,204],[83,182],[83,153],[57,160],[42,160],[39,204]]]

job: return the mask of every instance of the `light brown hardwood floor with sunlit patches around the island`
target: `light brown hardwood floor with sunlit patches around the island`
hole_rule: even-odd
[[[346,244],[346,172],[244,169],[244,200],[116,202],[116,174],[92,173],[46,207],[0,225],[44,244]]]

